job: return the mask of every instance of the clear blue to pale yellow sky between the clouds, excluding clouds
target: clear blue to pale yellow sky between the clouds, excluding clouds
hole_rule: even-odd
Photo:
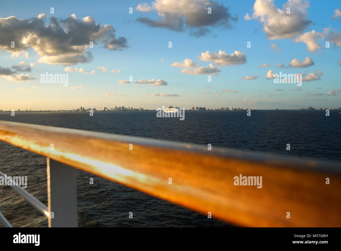
[[[23,74],[29,74],[31,78],[36,78],[29,81],[13,81],[8,75],[1,75],[0,72],[0,109],[16,110],[30,107],[32,109],[72,109],[79,106],[103,108],[104,106],[122,105],[155,109],[168,104],[183,108],[233,106],[256,109],[295,109],[307,106],[336,108],[341,106],[339,76],[341,69],[339,67],[341,16],[336,11],[337,9],[341,10],[339,1],[328,1],[328,4],[323,1],[308,1],[308,3],[299,0],[291,1],[291,15],[296,15],[297,19],[290,16],[288,22],[295,23],[297,21],[297,26],[300,26],[299,22],[302,21],[301,26],[297,28],[295,25],[288,25],[288,28],[282,26],[282,29],[273,29],[271,32],[276,35],[272,36],[265,31],[269,28],[269,23],[267,20],[262,21],[262,16],[259,13],[264,10],[270,13],[266,8],[271,8],[271,4],[282,9],[283,4],[286,4],[287,1],[257,0],[258,12],[254,11],[255,1],[221,1],[218,6],[212,4],[216,7],[212,8],[210,15],[220,13],[218,8],[223,9],[222,6],[228,8],[227,13],[231,14],[228,19],[228,24],[231,26],[228,28],[219,24],[219,21],[224,19],[218,20],[213,25],[203,26],[198,23],[192,26],[188,25],[186,21],[192,17],[192,14],[188,14],[186,11],[185,13],[181,8],[186,8],[188,5],[195,10],[196,5],[205,6],[201,1],[190,0],[171,1],[179,4],[178,11],[173,11],[171,14],[184,20],[186,25],[182,27],[183,31],[171,30],[166,27],[150,27],[146,23],[136,21],[139,17],[147,17],[153,21],[159,20],[158,13],[165,11],[162,9],[165,5],[161,5],[163,1],[165,4],[168,2],[166,0],[146,2],[146,6],[150,6],[150,12],[141,12],[136,9],[141,1],[82,1],[81,4],[70,3],[70,1],[29,1],[24,3],[2,1],[0,3],[1,18],[15,16],[17,19],[25,20],[37,18],[39,14],[44,13],[45,25],[48,25],[51,16],[55,16],[57,19],[66,19],[75,14],[80,22],[82,18],[90,16],[96,24],[112,25],[116,38],[123,36],[128,46],[122,50],[109,50],[103,48],[103,44],[98,43],[94,45],[94,48],[86,50],[91,51],[92,61],[67,65],[65,63],[51,64],[49,59],[41,60],[46,55],[39,51],[37,47],[39,45],[32,45],[34,40],[32,38],[30,38],[32,41],[30,40],[27,48],[23,49],[22,54],[18,57],[12,55],[11,49],[6,47],[6,44],[0,43],[0,67],[3,70],[8,68],[13,70],[14,68],[11,67],[18,65],[19,62],[25,62],[26,65],[35,63],[29,72],[23,72]],[[156,5],[153,5],[153,2]],[[54,14],[50,14],[51,7],[54,8]],[[133,8],[133,14],[129,14],[130,7]],[[300,12],[302,8],[304,10]],[[246,13],[249,13],[249,16],[252,16],[253,13],[256,14],[254,18],[247,20],[244,18]],[[232,19],[236,15],[238,16],[237,21]],[[334,19],[332,19],[333,16],[335,16]],[[275,22],[281,22],[279,20],[281,17],[277,17],[276,14],[264,17],[268,20],[272,18],[271,20]],[[0,23],[4,27],[4,20],[1,20]],[[304,25],[306,20],[309,20],[309,24]],[[166,19],[165,22],[169,24],[169,20]],[[209,32],[199,37],[190,34],[192,30],[201,27],[206,27]],[[329,30],[324,30],[325,28],[329,28]],[[11,29],[16,29],[16,26],[12,25]],[[314,34],[316,40],[310,42],[314,42],[321,48],[309,50],[307,43],[295,41],[301,35],[313,30],[316,32]],[[6,34],[1,35],[6,38],[5,40],[10,41],[10,36]],[[39,36],[39,32],[34,30],[30,34]],[[276,36],[275,39],[274,36]],[[330,42],[331,40],[333,42]],[[6,41],[7,44],[8,41]],[[53,43],[53,37],[51,37],[51,41]],[[169,41],[172,42],[172,48],[168,48]],[[247,47],[249,41],[251,48]],[[325,48],[326,41],[330,42],[329,48]],[[270,48],[272,43],[276,44],[279,52]],[[228,55],[235,51],[241,51],[246,61],[230,64],[229,56],[227,56],[225,58],[227,63],[219,65],[216,64],[218,61],[204,61],[198,58],[201,53],[206,51],[212,54],[213,52],[218,53],[219,50]],[[46,47],[44,51],[47,51]],[[26,52],[28,53],[27,57],[25,56]],[[313,61],[313,64],[303,67],[301,61],[307,57]],[[182,63],[187,58],[195,62],[196,66],[191,68],[170,66],[174,62]],[[162,59],[163,61],[160,62]],[[293,59],[298,60],[299,68],[288,66]],[[195,70],[199,67],[207,68],[210,63],[213,64],[213,67],[220,68],[220,72],[217,72],[218,75],[212,76],[211,82],[207,81],[210,74],[180,73],[182,69],[186,71],[186,69]],[[261,68],[264,63],[272,64],[272,66]],[[279,63],[284,64],[286,68],[277,67],[276,65]],[[66,72],[64,70],[66,67],[83,68],[85,72],[96,71],[97,73]],[[98,67],[105,67],[107,71],[102,72]],[[120,70],[120,72],[110,72],[114,69]],[[301,90],[296,90],[298,88],[296,84],[274,84],[272,79],[266,79],[269,70],[275,74],[279,74],[280,71],[286,74],[305,73],[308,75],[314,73],[312,76],[317,77],[317,80],[305,81],[300,86]],[[58,83],[40,83],[40,74],[45,72],[69,74],[69,85],[64,87]],[[19,72],[15,74],[19,74]],[[257,78],[241,79],[247,75],[257,76]],[[129,80],[129,76],[133,76],[133,83],[119,83],[119,80]],[[134,83],[135,80],[141,79],[154,79],[155,81],[160,79],[167,82],[167,85]],[[82,87],[78,88],[80,86]]]

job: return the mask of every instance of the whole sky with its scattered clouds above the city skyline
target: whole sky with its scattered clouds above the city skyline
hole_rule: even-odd
[[[338,108],[340,52],[336,0],[1,1],[0,109]]]

